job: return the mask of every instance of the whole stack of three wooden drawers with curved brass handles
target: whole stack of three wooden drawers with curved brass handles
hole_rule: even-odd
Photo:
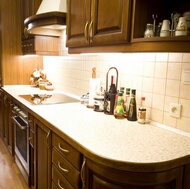
[[[52,134],[52,185],[80,189],[82,154],[55,133]]]

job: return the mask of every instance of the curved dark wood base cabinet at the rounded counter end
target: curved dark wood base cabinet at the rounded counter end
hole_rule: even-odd
[[[189,167],[188,167],[189,169]],[[183,187],[183,166],[161,172],[129,172],[108,168],[87,158],[82,170],[86,189],[187,189],[190,169]]]

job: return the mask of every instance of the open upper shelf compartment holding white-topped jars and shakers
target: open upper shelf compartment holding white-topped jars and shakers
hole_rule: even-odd
[[[187,0],[133,3],[132,42],[190,40],[190,2]]]

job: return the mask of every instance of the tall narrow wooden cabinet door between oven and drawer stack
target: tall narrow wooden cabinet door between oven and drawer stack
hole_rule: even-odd
[[[50,189],[51,184],[51,131],[34,119],[34,185],[36,189]]]

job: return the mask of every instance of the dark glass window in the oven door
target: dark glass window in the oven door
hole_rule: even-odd
[[[16,147],[27,162],[27,129],[16,126]]]

